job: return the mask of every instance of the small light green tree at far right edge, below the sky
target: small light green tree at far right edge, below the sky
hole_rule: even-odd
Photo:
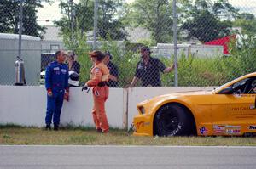
[[[239,14],[234,21],[233,26],[241,27],[241,33],[247,35],[256,35],[256,18],[253,14]]]

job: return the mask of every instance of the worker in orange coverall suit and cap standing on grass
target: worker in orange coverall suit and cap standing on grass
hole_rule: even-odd
[[[82,91],[92,87],[94,106],[92,110],[93,121],[97,132],[107,133],[109,131],[108,119],[105,111],[105,102],[108,99],[108,76],[109,70],[103,63],[105,54],[95,50],[89,53],[90,59],[94,63],[90,71],[90,80],[82,87]]]

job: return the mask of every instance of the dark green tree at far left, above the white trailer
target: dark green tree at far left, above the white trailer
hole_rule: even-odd
[[[42,8],[43,0],[25,0],[23,2],[23,29],[22,34],[41,37],[44,26],[37,23],[38,8]],[[44,2],[50,2],[44,0]],[[19,32],[20,2],[14,0],[1,0],[0,4],[0,31],[5,33]]]

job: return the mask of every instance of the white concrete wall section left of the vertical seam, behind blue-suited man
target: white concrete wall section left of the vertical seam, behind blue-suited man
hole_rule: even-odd
[[[111,127],[125,127],[122,88],[111,88],[106,104]],[[92,94],[81,92],[81,87],[71,87],[70,101],[64,101],[61,124],[94,126],[91,109]],[[44,126],[46,91],[44,87],[0,86],[0,123],[15,123],[24,126]]]

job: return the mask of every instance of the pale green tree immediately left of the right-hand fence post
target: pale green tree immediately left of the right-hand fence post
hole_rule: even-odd
[[[168,0],[137,0],[127,5],[126,23],[142,26],[155,42],[172,41],[172,3]]]

